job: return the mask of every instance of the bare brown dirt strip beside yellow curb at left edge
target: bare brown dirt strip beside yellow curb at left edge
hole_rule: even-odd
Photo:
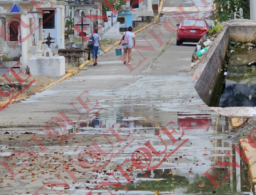
[[[22,80],[26,80],[28,78],[28,75],[20,75],[20,78]],[[13,76],[7,76],[7,79],[10,82],[18,82],[18,80]],[[10,82],[7,79],[5,79],[5,77],[0,77],[0,82],[3,82],[5,84],[10,84]],[[35,94],[58,79],[60,79],[60,77],[47,77],[47,76],[41,76],[41,75],[31,76],[28,80],[25,81],[26,84],[30,84],[31,82],[33,82],[33,80],[35,80],[35,81],[30,85],[29,90],[26,90],[25,92],[23,92],[22,94],[17,96],[16,99],[23,98],[23,97],[29,96],[31,94]],[[15,89],[14,96],[16,96],[16,94],[18,94],[18,93],[19,93],[19,91]],[[0,96],[0,102],[7,101],[11,97],[12,97],[12,94],[10,94],[10,96],[7,96],[7,97]]]

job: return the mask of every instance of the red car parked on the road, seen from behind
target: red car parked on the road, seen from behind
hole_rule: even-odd
[[[177,24],[177,45],[183,42],[198,43],[207,31],[209,26],[203,19],[186,18],[181,24]]]

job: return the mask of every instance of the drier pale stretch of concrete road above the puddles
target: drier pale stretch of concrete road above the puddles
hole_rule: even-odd
[[[133,50],[132,66],[136,67],[140,62],[141,64],[131,73],[118,59],[115,50],[112,50],[100,57],[95,67],[89,64],[74,77],[25,101],[9,105],[0,112],[1,127],[18,130],[42,128],[63,109],[71,120],[77,120],[77,112],[69,104],[85,90],[89,94],[84,94],[82,99],[85,101],[87,97],[91,101],[87,105],[94,107],[98,101],[99,105],[96,108],[102,107],[104,112],[115,109],[112,106],[115,103],[122,105],[127,100],[140,105],[154,105],[155,108],[165,111],[209,111],[196,94],[189,76],[194,45],[186,49],[175,45],[175,30],[168,29],[169,24],[163,24],[166,16],[160,18],[158,25],[136,35],[137,46],[144,48]],[[173,25],[177,24],[175,20],[169,21]],[[170,45],[167,44],[169,40]],[[162,52],[164,47],[167,47],[166,52]],[[156,58],[158,60],[150,69]],[[74,105],[80,113],[86,113],[77,101],[74,101]],[[89,116],[84,115],[82,118],[87,119]]]

